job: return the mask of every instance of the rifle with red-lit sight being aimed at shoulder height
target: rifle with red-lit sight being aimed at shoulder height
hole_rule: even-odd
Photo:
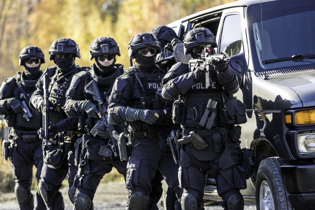
[[[191,71],[194,71],[199,66],[204,67],[204,71],[206,72],[206,88],[209,88],[209,86],[212,86],[211,74],[215,71],[213,62],[227,63],[230,59],[226,58],[226,55],[224,54],[210,55],[211,48],[204,48],[204,52],[205,54],[201,55],[201,58],[189,60],[189,68]]]

